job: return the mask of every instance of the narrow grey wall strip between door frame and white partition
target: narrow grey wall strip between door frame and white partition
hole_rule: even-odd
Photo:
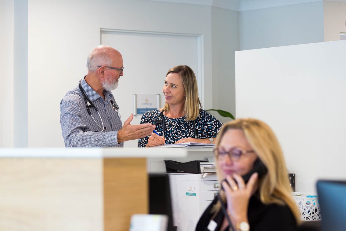
[[[211,7],[213,108],[226,110],[234,116],[235,51],[239,51],[238,19],[237,11]],[[230,120],[219,116],[217,112],[211,113],[221,122]]]

